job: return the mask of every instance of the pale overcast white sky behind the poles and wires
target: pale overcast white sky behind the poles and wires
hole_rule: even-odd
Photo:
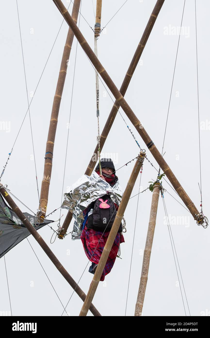
[[[103,0],[101,27],[111,19],[124,0]],[[95,7],[95,0],[93,1]],[[141,39],[156,0],[128,0],[119,13],[108,24],[106,34],[98,39],[98,58],[114,83],[120,88],[125,73]],[[67,7],[69,3],[64,2]],[[164,27],[180,26],[184,0],[165,1],[155,22],[149,40],[141,56],[142,65],[137,66],[131,79],[125,99],[147,130],[151,139],[161,151],[166,117],[168,112],[171,84],[175,65],[179,35],[165,35]],[[200,121],[207,121],[206,130],[200,130],[203,211],[209,216],[209,17],[210,3],[197,1],[197,40],[198,40],[198,76]],[[47,61],[52,45],[62,23],[62,16],[53,1],[18,0],[20,26],[22,33],[26,80],[29,102],[30,93],[35,91],[37,82]],[[69,7],[71,13],[72,4]],[[82,15],[93,27],[95,23],[92,0],[82,0]],[[0,130],[1,170],[17,136],[17,132],[27,111],[27,96],[21,50],[20,32],[16,1],[2,3],[1,9],[1,121],[10,122],[10,132]],[[78,20],[79,21],[79,20]],[[198,138],[198,97],[196,69],[196,30],[194,1],[186,0],[182,25],[189,29],[187,36],[181,35],[172,89],[171,106],[164,151],[164,158],[182,184],[183,188],[200,210],[199,138]],[[187,28],[189,27],[189,28]],[[34,33],[31,34],[31,28]],[[80,29],[90,46],[94,48],[93,32],[81,17]],[[46,69],[38,85],[30,106],[34,140],[39,192],[44,166],[44,153],[48,127],[55,94],[58,73],[66,40],[68,26],[64,22]],[[61,203],[63,171],[66,152],[74,60],[77,40],[74,38],[63,90],[58,126],[55,139],[53,170],[50,184],[47,214],[58,208]],[[113,102],[107,94],[103,97],[104,87],[100,86],[100,131],[108,118]],[[107,86],[106,86],[107,87]],[[179,97],[176,97],[176,92]],[[110,92],[110,91],[109,91]],[[112,96],[112,94],[111,94]],[[113,98],[113,96],[112,96]],[[97,118],[95,106],[95,74],[81,46],[78,44],[76,72],[74,79],[69,143],[66,159],[64,192],[84,174],[95,149],[97,136]],[[129,122],[125,113],[122,116],[133,131],[136,139],[146,148],[136,129]],[[210,126],[209,126],[210,129]],[[119,168],[137,156],[138,146],[134,142],[121,116],[117,114],[103,153],[114,153],[117,158],[115,167]],[[149,150],[148,158],[158,168]],[[14,150],[10,156],[2,178],[3,184],[36,212],[38,194],[36,188],[34,161],[29,115],[24,121]],[[179,160],[177,159],[179,155]],[[134,162],[117,172],[123,190],[132,171]],[[162,172],[162,171],[161,171]],[[145,160],[141,185],[148,187],[148,181],[156,179],[156,171]],[[138,193],[140,176],[132,195]],[[163,181],[163,186],[181,203],[181,199]],[[167,192],[164,194],[168,214],[186,216],[186,224],[171,225],[179,266],[185,286],[185,292],[191,315],[200,316],[210,311],[209,299],[209,228],[199,227],[191,214],[176,202]],[[132,198],[125,212],[127,233],[125,243],[121,245],[121,259],[115,265],[105,282],[100,282],[93,304],[105,316],[124,316],[132,241],[137,210],[137,198]],[[136,233],[133,246],[130,286],[126,315],[133,316],[140,282],[152,193],[147,190],[140,194],[137,214]],[[22,211],[28,211],[15,200]],[[182,203],[183,204],[183,203]],[[64,216],[67,210],[62,209]],[[177,272],[171,247],[168,226],[164,224],[164,209],[159,199],[156,228],[150,259],[149,276],[145,294],[143,315],[185,315],[180,287],[177,286]],[[59,211],[50,216],[57,220]],[[72,224],[70,230],[72,230]],[[57,223],[53,223],[54,229]],[[72,241],[70,235],[64,240],[56,239],[50,244],[53,231],[45,226],[40,235],[50,246],[54,254],[67,269],[75,281],[78,281],[88,263],[80,240]],[[72,294],[72,288],[57,271],[32,236],[28,237],[44,270],[65,306]],[[70,250],[70,255],[67,255]],[[7,276],[13,315],[60,316],[63,307],[52,286],[44,274],[27,240],[22,241],[5,255]],[[87,293],[93,275],[88,272],[88,264],[79,286]],[[0,311],[9,311],[9,296],[4,259],[0,260]],[[34,286],[31,287],[33,281]],[[183,290],[183,288],[182,288]],[[184,292],[183,292],[184,297]],[[70,316],[79,315],[82,300],[74,293],[66,310]],[[186,300],[186,314],[189,315]],[[66,314],[64,314],[66,315]],[[89,311],[88,315],[92,315]]]

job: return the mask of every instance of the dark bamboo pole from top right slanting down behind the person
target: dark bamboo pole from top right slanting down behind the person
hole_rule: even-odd
[[[134,73],[134,71],[135,71],[135,69],[138,65],[138,62],[140,60],[140,57],[141,57],[142,52],[144,50],[144,47],[147,43],[147,40],[148,40],[149,35],[152,31],[152,28],[154,26],[156,18],[158,16],[159,12],[160,12],[160,9],[162,8],[163,3],[164,3],[164,0],[157,0],[155,6],[153,8],[152,14],[150,15],[150,18],[148,20],[148,23],[146,25],[146,28],[145,28],[144,33],[142,35],[142,38],[141,38],[141,40],[140,40],[140,42],[137,46],[136,52],[133,55],[130,66],[129,66],[126,74],[125,74],[124,80],[123,80],[122,85],[120,87],[120,93],[123,96],[125,95],[125,93],[127,91],[127,88],[129,86],[132,75],[133,75],[133,73]],[[103,128],[101,136],[100,136],[100,149],[103,148],[103,145],[104,145],[104,143],[105,143],[105,141],[108,137],[108,134],[110,132],[110,129],[112,127],[114,119],[117,115],[119,107],[120,107],[120,105],[119,105],[118,101],[116,100],[113,107],[112,107],[112,110],[109,114],[107,122],[106,122],[106,124]],[[90,163],[88,164],[88,167],[85,171],[85,174],[88,175],[88,176],[91,175],[91,173],[94,169],[95,163],[97,162],[97,157],[98,157],[97,155],[98,155],[98,145],[96,145],[95,150],[93,152],[93,155],[91,157]],[[62,230],[61,230],[60,234],[58,235],[58,238],[63,239],[64,235],[66,234],[66,232],[68,230],[68,226],[71,222],[71,219],[72,219],[72,213],[70,211],[68,211],[66,218],[63,222]]]

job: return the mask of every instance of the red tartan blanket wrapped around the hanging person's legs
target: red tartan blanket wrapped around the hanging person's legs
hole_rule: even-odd
[[[84,227],[81,235],[81,240],[86,256],[91,262],[98,264],[103,248],[107,242],[108,236],[109,232],[103,234],[101,231],[87,229],[86,226]],[[105,276],[112,270],[112,267],[117,257],[119,245],[123,242],[125,242],[123,235],[117,233],[107,263],[103,269],[100,281],[104,281]]]

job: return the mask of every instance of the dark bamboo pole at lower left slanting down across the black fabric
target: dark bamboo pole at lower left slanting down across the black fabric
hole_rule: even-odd
[[[25,227],[31,233],[31,235],[35,238],[37,243],[41,246],[53,264],[56,266],[58,271],[62,274],[65,280],[70,284],[70,286],[75,290],[75,292],[80,296],[80,298],[84,301],[86,298],[86,294],[82,291],[82,289],[77,285],[77,283],[73,280],[70,274],[66,271],[63,265],[59,262],[57,257],[53,254],[49,246],[46,242],[44,242],[43,238],[40,234],[34,229],[33,225],[29,222],[28,218],[22,213],[22,211],[18,208],[18,206],[14,203],[13,199],[10,197],[8,192],[5,190],[3,185],[0,183],[0,193],[5,198],[12,211],[16,213],[19,219],[23,222]],[[91,304],[91,312],[94,316],[101,316],[98,310]]]

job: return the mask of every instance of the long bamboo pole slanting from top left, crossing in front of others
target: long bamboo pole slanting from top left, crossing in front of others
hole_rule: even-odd
[[[122,107],[122,109],[125,112],[125,114],[127,115],[127,117],[129,118],[131,123],[134,125],[134,127],[137,129],[139,135],[141,136],[141,138],[145,142],[147,148],[152,153],[154,159],[157,161],[160,168],[166,174],[166,176],[170,180],[172,186],[174,187],[174,189],[176,190],[176,192],[178,193],[180,198],[183,200],[186,207],[189,209],[193,218],[194,219],[197,219],[197,218],[202,219],[203,216],[199,213],[198,209],[194,206],[194,203],[191,201],[191,199],[189,198],[187,193],[184,191],[183,187],[179,183],[178,179],[176,178],[176,176],[172,172],[169,165],[166,163],[166,161],[161,156],[160,152],[158,151],[158,149],[154,145],[153,141],[151,140],[151,138],[147,134],[143,125],[141,124],[139,119],[136,117],[136,115],[133,113],[130,106],[125,101],[124,97],[121,95],[121,93],[119,92],[119,90],[115,86],[114,82],[112,81],[112,79],[110,78],[110,76],[108,75],[106,70],[103,68],[103,66],[99,62],[98,58],[96,57],[96,55],[94,54],[94,52],[92,51],[90,46],[88,45],[85,38],[83,37],[81,31],[79,30],[77,25],[72,20],[70,14],[68,13],[65,6],[63,5],[62,1],[61,0],[53,0],[53,2],[56,4],[57,8],[59,9],[60,13],[63,15],[63,17],[66,20],[69,27],[72,29],[75,37],[79,41],[81,47],[83,48],[86,55],[88,56],[88,58],[92,62],[93,66],[97,69],[98,73],[101,75],[102,79],[107,84],[108,88],[110,89],[110,91],[114,95],[115,99],[118,101],[118,103]]]

